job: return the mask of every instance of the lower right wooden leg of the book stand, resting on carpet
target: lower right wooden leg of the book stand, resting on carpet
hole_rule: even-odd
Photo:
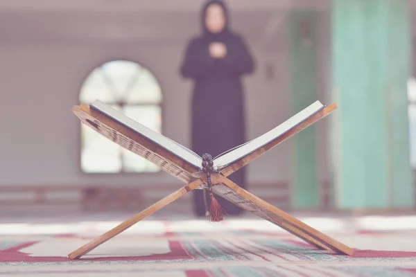
[[[302,240],[309,242],[313,246],[320,247],[323,249],[331,249],[333,251],[336,251],[337,253],[342,253],[342,254],[347,254],[347,255],[352,255],[352,253],[354,253],[354,250],[347,247],[345,244],[342,244],[334,240],[333,238],[330,238],[324,233],[321,233],[320,231],[313,229],[311,226],[304,224],[304,222],[297,220],[295,217],[289,215],[288,213],[281,211],[279,208],[272,206],[271,204],[264,201],[263,199],[260,199],[259,197],[252,195],[252,193],[249,193],[247,190],[236,185],[233,181],[229,180],[227,177],[216,174],[216,175],[211,176],[211,180],[213,181],[213,183],[216,183],[216,184],[222,183],[225,186],[227,186],[227,188],[232,190],[232,191],[225,193],[225,194],[229,193],[229,195],[225,195],[226,199],[229,197],[240,197],[243,200],[245,200],[245,203],[248,203],[249,205],[254,204],[254,206],[257,206],[259,207],[259,209],[266,211],[266,212],[259,211],[258,213],[256,213],[254,209],[254,211],[252,211],[253,213],[258,215],[259,217],[269,220],[270,222],[273,222],[274,224],[277,224],[278,226],[281,226],[281,228],[287,231],[290,231],[294,235],[297,235],[297,237],[302,238]],[[223,186],[223,185],[216,185],[216,186]],[[214,186],[214,192],[215,192],[216,186]],[[236,199],[236,200],[241,201],[239,199]],[[241,206],[244,207],[244,205],[245,204]]]

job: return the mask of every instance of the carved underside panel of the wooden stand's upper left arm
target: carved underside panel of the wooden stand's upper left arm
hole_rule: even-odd
[[[122,148],[130,150],[131,152],[134,152],[140,157],[143,157],[144,159],[147,159],[148,161],[155,163],[156,166],[159,166],[159,168],[162,168],[162,170],[168,172],[170,175],[173,175],[177,179],[180,179],[181,181],[184,181],[186,183],[189,183],[194,179],[188,172],[182,170],[182,168],[177,166],[175,163],[169,161],[168,159],[165,159],[164,157],[160,156],[159,154],[156,154],[155,152],[150,151],[143,145],[140,145],[136,141],[133,141],[127,136],[121,134],[120,132],[117,132],[112,127],[109,127],[101,123],[100,121],[96,120],[92,116],[89,116],[89,114],[83,111],[77,111],[74,113],[78,118],[80,118],[83,124],[91,127],[92,129],[94,129],[94,131],[98,132],[99,134],[102,134],[107,139],[114,141],[114,143],[117,143]]]

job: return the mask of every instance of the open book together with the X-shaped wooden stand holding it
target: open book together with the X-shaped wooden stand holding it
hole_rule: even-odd
[[[349,247],[252,195],[227,178],[227,176],[246,166],[282,141],[312,125],[320,118],[327,116],[334,109],[336,109],[335,104],[327,106],[316,101],[256,139],[237,145],[235,148],[212,158],[209,154],[200,157],[195,152],[180,145],[180,143],[141,125],[100,100],[96,100],[90,105],[74,106],[72,111],[83,124],[92,127],[96,132],[121,145],[121,147],[155,163],[159,168],[187,185],[92,240],[92,242],[85,244],[80,249],[73,251],[69,254],[69,258],[80,258],[98,245],[148,217],[148,215],[189,193],[189,191],[206,189],[207,187],[211,197],[213,194],[219,195],[297,235],[297,237],[319,249],[352,255],[353,250]]]

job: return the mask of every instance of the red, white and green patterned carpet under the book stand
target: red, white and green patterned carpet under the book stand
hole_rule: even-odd
[[[416,217],[299,217],[356,249],[319,251],[264,220],[148,218],[81,260],[109,216],[0,220],[0,276],[416,276]],[[23,222],[23,223],[22,223]]]

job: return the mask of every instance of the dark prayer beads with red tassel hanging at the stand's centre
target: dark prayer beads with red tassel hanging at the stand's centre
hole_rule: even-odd
[[[211,172],[214,172],[214,162],[212,161],[212,157],[210,154],[203,154],[202,155],[202,172],[205,173],[207,176],[207,186],[209,197],[211,198],[211,206],[209,206],[209,221],[211,222],[220,222],[223,220],[223,208],[220,206],[218,201],[214,198],[214,194],[212,193],[212,184],[211,184]],[[204,189],[204,201],[205,201],[205,208],[208,211],[208,205],[206,200],[206,188]]]

